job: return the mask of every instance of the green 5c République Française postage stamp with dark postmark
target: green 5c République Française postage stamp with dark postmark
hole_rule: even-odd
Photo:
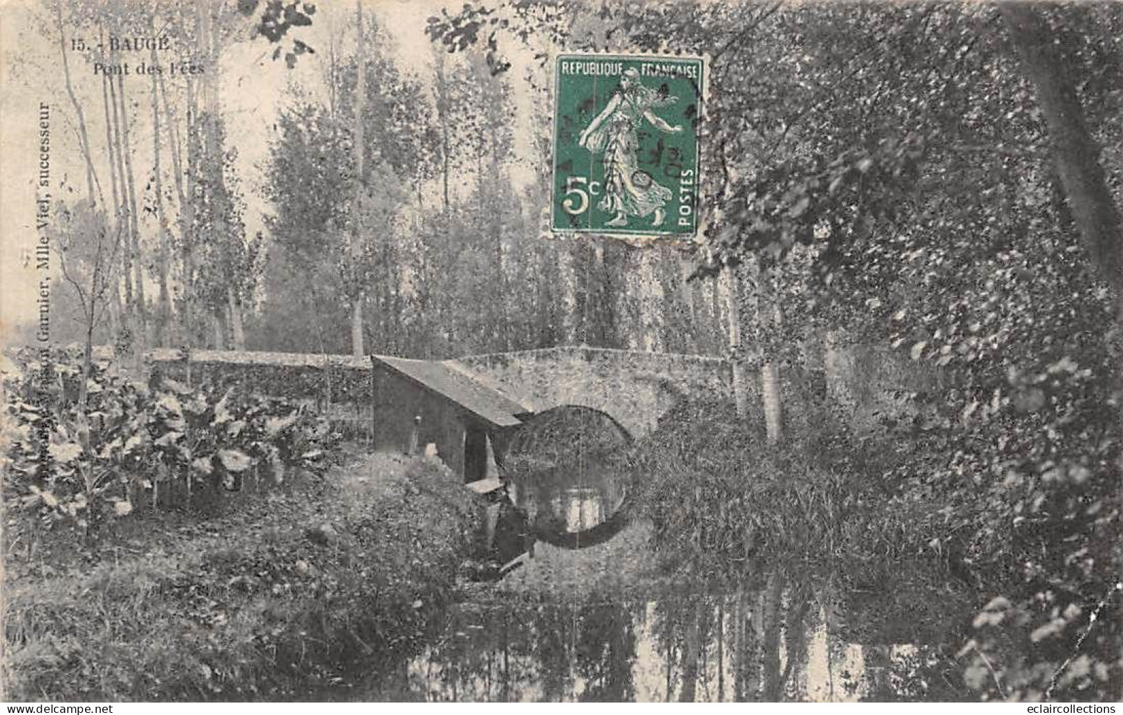
[[[555,231],[694,236],[703,71],[697,57],[558,56]]]

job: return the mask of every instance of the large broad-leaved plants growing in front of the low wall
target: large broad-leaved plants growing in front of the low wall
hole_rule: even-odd
[[[25,351],[7,375],[4,494],[49,524],[95,532],[149,504],[192,505],[292,468],[322,470],[336,437],[326,420],[247,391],[223,393],[172,379],[127,379],[94,364],[88,404],[81,368],[62,351]]]

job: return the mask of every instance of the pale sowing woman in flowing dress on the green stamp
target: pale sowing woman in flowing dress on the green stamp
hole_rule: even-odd
[[[666,218],[663,207],[673,194],[639,168],[636,130],[646,119],[659,131],[682,131],[682,126],[672,127],[651,111],[676,101],[677,97],[659,97],[651,88],[640,84],[639,72],[629,67],[608,106],[581,132],[577,144],[593,154],[604,153],[604,196],[597,207],[615,214],[605,226],[627,226],[628,217],[646,218],[651,213],[655,214],[651,226],[663,224]]]

